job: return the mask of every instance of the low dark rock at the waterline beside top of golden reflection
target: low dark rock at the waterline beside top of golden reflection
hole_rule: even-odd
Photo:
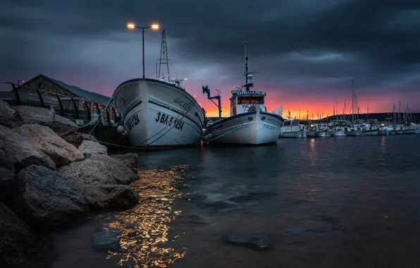
[[[83,195],[94,209],[125,208],[139,202],[137,194],[128,185],[92,183],[83,189]]]

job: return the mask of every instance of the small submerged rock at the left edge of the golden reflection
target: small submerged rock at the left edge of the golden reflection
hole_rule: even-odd
[[[120,250],[121,233],[115,229],[95,231],[92,234],[92,248],[98,251]]]

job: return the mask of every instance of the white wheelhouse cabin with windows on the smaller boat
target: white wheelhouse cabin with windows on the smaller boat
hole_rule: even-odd
[[[261,111],[267,111],[264,102],[265,97],[266,92],[242,91],[239,86],[235,86],[232,90],[232,97],[230,97],[230,116],[255,111],[257,106]]]

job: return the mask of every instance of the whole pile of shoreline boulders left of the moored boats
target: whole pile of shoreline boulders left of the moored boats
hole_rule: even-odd
[[[42,233],[97,209],[137,204],[137,154],[108,155],[49,109],[0,99],[0,264],[39,267]]]

